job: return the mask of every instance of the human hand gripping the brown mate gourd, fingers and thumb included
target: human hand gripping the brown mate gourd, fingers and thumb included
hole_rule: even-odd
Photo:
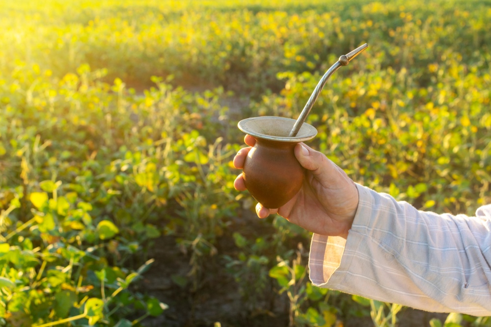
[[[244,142],[249,146],[237,152],[234,167],[244,168],[244,162],[256,140],[246,135]],[[290,222],[317,234],[348,237],[358,208],[358,190],[355,182],[336,166],[326,155],[315,151],[304,143],[295,147],[295,156],[306,169],[300,191],[280,208],[266,208],[256,205],[259,218],[278,213]],[[243,175],[234,182],[236,190],[245,191]]]

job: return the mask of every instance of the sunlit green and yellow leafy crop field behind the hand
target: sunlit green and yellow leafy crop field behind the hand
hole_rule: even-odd
[[[0,326],[490,326],[319,289],[237,122],[418,209],[491,202],[491,1],[0,0]]]

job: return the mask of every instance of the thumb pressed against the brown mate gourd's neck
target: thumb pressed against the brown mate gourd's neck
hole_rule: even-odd
[[[315,151],[304,143],[295,146],[295,156],[300,165],[321,182],[329,182],[337,173],[336,165],[324,153]]]

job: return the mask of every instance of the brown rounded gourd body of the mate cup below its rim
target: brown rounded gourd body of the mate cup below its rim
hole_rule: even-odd
[[[290,201],[303,183],[304,170],[295,157],[296,143],[256,139],[244,163],[247,190],[267,208]]]

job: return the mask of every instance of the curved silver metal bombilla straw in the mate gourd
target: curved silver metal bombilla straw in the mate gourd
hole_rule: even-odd
[[[290,134],[288,134],[288,137],[297,136],[297,133],[299,132],[300,127],[302,126],[303,122],[305,121],[305,118],[307,118],[307,115],[309,114],[310,109],[312,109],[312,106],[314,105],[314,102],[317,100],[317,97],[319,97],[319,93],[321,93],[322,88],[324,87],[324,85],[327,82],[327,79],[329,79],[329,77],[332,74],[334,74],[334,72],[337,71],[339,69],[339,67],[348,66],[350,61],[352,61],[353,58],[355,58],[358,54],[360,54],[366,48],[368,48],[368,44],[365,43],[364,45],[356,48],[355,50],[351,51],[350,53],[348,53],[346,55],[343,54],[342,56],[339,57],[338,61],[334,65],[332,65],[331,68],[329,68],[327,70],[326,74],[324,74],[324,76],[322,76],[321,80],[319,81],[319,83],[315,87],[315,90],[312,93],[312,95],[310,96],[309,100],[307,101],[307,104],[305,104],[305,107],[303,107],[303,110],[300,113],[299,118],[295,122],[295,125],[293,126]]]

